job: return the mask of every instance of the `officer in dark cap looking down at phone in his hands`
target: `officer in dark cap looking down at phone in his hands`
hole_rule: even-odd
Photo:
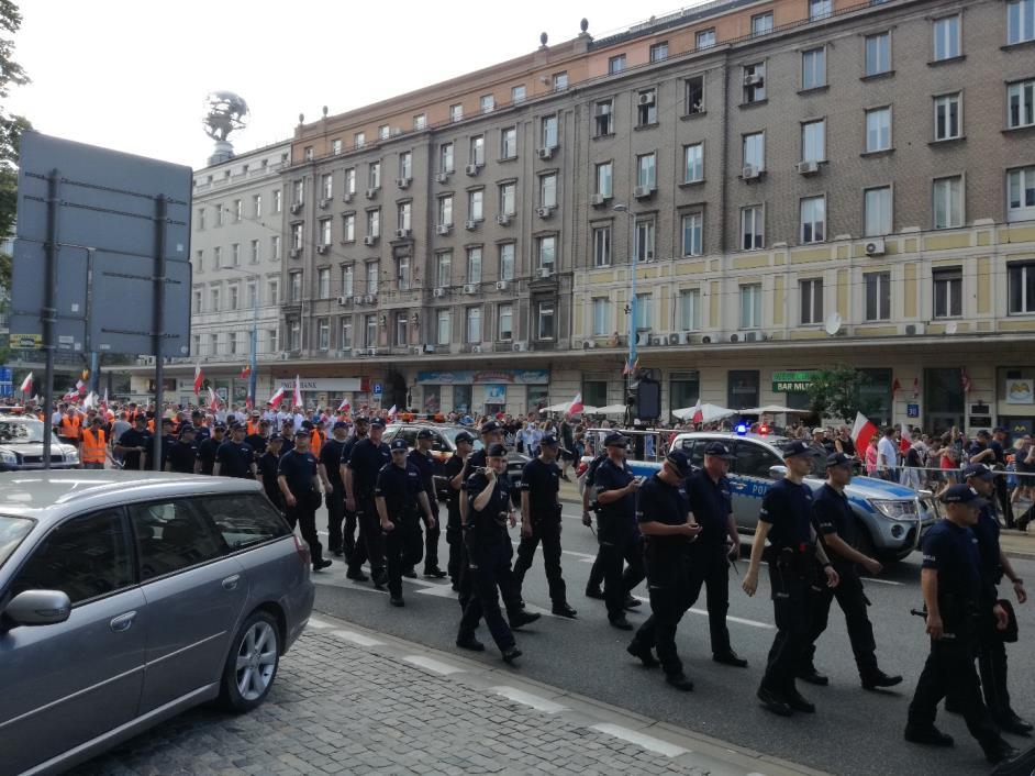
[[[683,673],[676,651],[676,628],[690,608],[690,545],[701,532],[690,513],[686,486],[689,474],[687,454],[676,450],[661,463],[661,470],[639,489],[636,520],[646,540],[650,617],[626,647],[647,667],[657,665],[650,654],[656,647],[665,680],[686,692],[693,689],[693,683]]]

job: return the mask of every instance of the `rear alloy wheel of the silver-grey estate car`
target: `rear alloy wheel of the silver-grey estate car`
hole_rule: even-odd
[[[252,612],[234,636],[220,687],[220,703],[251,711],[265,700],[280,663],[280,631],[265,611]]]

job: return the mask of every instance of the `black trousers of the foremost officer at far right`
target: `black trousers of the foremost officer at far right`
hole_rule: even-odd
[[[981,701],[978,673],[973,668],[975,643],[965,634],[956,639],[931,640],[931,654],[916,681],[910,703],[909,723],[917,728],[934,724],[938,703],[948,698],[962,712],[967,730],[982,745],[999,740],[999,729]]]

